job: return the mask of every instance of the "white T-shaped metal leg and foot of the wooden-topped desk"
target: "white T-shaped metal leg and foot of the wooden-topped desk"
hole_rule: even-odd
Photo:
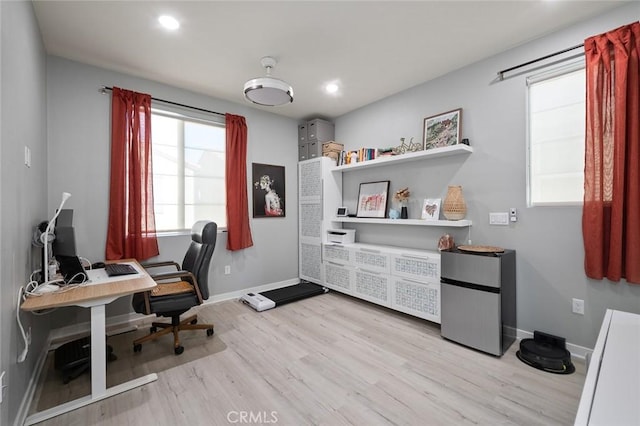
[[[33,425],[60,414],[68,413],[85,405],[146,385],[158,380],[155,373],[147,374],[107,389],[107,342],[105,327],[105,305],[91,307],[91,395],[40,411],[27,417],[24,424]]]

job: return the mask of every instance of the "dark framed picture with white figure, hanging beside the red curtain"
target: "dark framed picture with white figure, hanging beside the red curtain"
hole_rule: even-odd
[[[252,164],[253,217],[284,217],[284,166]]]

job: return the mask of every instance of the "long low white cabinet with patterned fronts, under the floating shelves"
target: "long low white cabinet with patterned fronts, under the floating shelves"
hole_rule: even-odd
[[[440,253],[373,244],[323,244],[325,286],[440,323]]]

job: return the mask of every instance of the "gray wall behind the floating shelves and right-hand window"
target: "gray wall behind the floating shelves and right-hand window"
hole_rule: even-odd
[[[525,76],[494,80],[499,70],[582,43],[639,16],[639,3],[615,9],[340,117],[336,139],[345,148],[386,147],[399,145],[400,137],[421,140],[424,117],[461,107],[462,136],[474,148],[468,156],[345,174],[346,205],[355,208],[360,182],[388,179],[392,190],[411,189],[409,215],[416,218],[424,198],[444,198],[447,185],[462,185],[467,218],[473,220],[472,242],[517,251],[518,328],[592,348],[607,308],[640,313],[640,285],[585,277],[580,207],[527,208]],[[510,207],[518,209],[516,224],[489,225],[489,212]],[[458,243],[468,238],[466,229],[355,228],[360,241],[421,248],[436,248],[445,232]],[[572,298],[584,299],[584,316],[571,312]]]

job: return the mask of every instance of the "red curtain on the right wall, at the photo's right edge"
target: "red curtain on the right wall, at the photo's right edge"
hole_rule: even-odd
[[[590,37],[584,48],[585,271],[640,284],[640,23]]]

